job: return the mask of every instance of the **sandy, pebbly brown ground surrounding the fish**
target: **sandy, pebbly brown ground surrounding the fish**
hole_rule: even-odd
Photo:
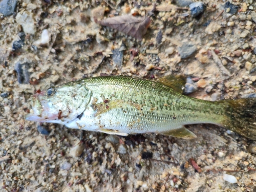
[[[37,90],[89,76],[184,74],[197,87],[193,97],[248,97],[256,82],[256,4],[203,3],[199,18],[188,7],[147,0],[22,0],[10,15],[0,13],[0,191],[255,191],[256,143],[219,126],[188,126],[198,138],[187,141],[51,123],[38,129],[25,120]],[[153,4],[158,11],[142,40],[95,23],[144,16]],[[182,58],[181,47],[191,44]]]

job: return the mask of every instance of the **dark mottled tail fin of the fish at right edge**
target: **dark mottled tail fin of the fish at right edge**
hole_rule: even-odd
[[[226,106],[222,126],[256,140],[256,98],[219,101]]]

